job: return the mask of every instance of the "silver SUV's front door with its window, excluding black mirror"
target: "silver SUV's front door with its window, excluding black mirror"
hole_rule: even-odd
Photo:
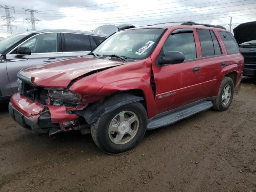
[[[17,57],[17,48],[11,54],[6,54],[7,74],[12,87],[12,92],[18,92],[17,73],[21,69],[26,69],[38,64],[63,59],[58,43],[58,33],[43,33],[32,36],[19,47],[29,47],[31,55]]]

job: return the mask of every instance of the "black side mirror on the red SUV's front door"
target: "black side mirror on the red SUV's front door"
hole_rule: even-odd
[[[185,56],[179,51],[167,51],[164,56],[161,57],[160,64],[177,64],[182,63],[185,60]]]

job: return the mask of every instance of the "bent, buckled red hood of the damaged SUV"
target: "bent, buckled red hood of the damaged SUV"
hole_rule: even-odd
[[[71,58],[37,65],[23,71],[31,77],[33,84],[45,88],[66,88],[68,84],[87,73],[125,64],[111,60],[94,58]]]

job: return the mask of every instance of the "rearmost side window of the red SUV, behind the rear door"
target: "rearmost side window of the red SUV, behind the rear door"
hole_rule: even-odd
[[[239,53],[238,44],[230,32],[218,31],[229,55]]]

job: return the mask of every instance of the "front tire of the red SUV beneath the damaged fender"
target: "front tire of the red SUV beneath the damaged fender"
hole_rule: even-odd
[[[123,114],[123,115],[119,115]],[[129,115],[131,115],[129,117]],[[123,116],[122,120],[121,119]],[[126,125],[129,121],[128,119],[134,116],[134,121],[132,124]],[[124,126],[121,125],[121,123]],[[115,123],[115,124],[114,124]],[[118,125],[118,131],[110,131],[112,127]],[[134,136],[128,134],[128,132],[122,137],[123,132],[126,132],[127,129],[133,128],[133,131],[136,132]],[[111,127],[111,128],[110,128]],[[121,153],[134,148],[140,141],[142,141],[147,127],[147,114],[144,106],[140,102],[134,102],[113,110],[112,112],[105,114],[98,118],[96,122],[91,124],[91,134],[95,144],[103,152],[108,154]],[[121,130],[125,129],[125,130]],[[130,130],[130,129],[129,129]],[[120,131],[120,132],[119,132]],[[122,133],[122,134],[121,134]],[[122,137],[122,140],[119,141],[118,136]],[[124,140],[124,142],[123,142]]]

